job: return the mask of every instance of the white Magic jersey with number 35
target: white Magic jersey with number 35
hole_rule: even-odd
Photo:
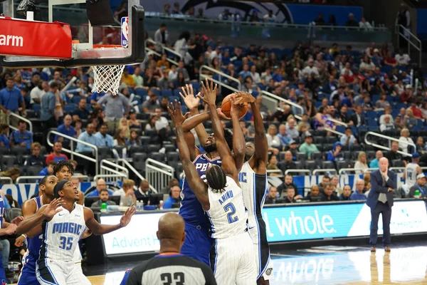
[[[83,206],[74,203],[74,209],[59,207],[50,222],[41,224],[43,230],[43,244],[39,259],[53,259],[61,261],[73,261],[78,241],[86,229]]]

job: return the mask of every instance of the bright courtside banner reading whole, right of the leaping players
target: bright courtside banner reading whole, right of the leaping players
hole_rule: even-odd
[[[369,236],[371,209],[366,204],[307,204],[297,207],[264,207],[268,242]],[[378,234],[382,234],[379,219]],[[391,234],[427,232],[426,204],[394,202]]]

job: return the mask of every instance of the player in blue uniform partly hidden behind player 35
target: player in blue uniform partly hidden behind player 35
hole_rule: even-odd
[[[55,175],[47,175],[43,177],[38,184],[38,190],[41,195],[33,199],[26,200],[22,204],[22,214],[25,219],[36,214],[39,208],[44,204],[49,204],[53,199],[53,187],[58,183],[58,177]],[[27,239],[27,251],[22,258],[22,269],[19,275],[18,285],[38,285],[36,278],[36,262],[38,253],[40,252],[41,244],[43,241],[43,234],[41,234],[41,224],[30,229],[25,234],[21,234],[16,242],[20,246],[23,241]]]

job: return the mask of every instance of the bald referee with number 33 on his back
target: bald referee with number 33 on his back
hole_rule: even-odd
[[[180,253],[185,239],[184,227],[184,219],[179,214],[167,213],[160,217],[157,231],[159,255],[127,272],[122,284],[216,285],[214,274],[208,265]]]

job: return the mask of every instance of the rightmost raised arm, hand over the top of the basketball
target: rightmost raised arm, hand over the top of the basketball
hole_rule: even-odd
[[[255,126],[255,153],[249,160],[249,165],[251,165],[253,169],[254,167],[257,167],[258,172],[264,173],[268,162],[268,142],[267,137],[265,136],[263,116],[255,102],[255,98],[249,93],[239,93],[235,103],[251,104],[253,124]]]

